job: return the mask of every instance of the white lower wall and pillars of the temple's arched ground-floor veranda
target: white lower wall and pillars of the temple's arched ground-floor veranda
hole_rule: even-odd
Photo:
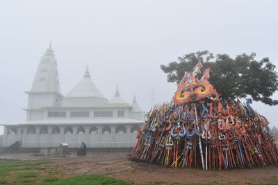
[[[58,147],[60,143],[68,143],[70,148],[78,148],[81,142],[84,141],[90,148],[117,148],[117,147],[133,147],[136,144],[137,133],[131,133],[131,124],[120,125],[68,125],[72,127],[72,134],[64,134],[66,125],[58,125],[60,134],[54,134],[52,130],[54,125],[48,125],[48,133],[40,134],[41,126],[35,126],[35,132],[27,134],[28,125],[18,127],[18,134],[8,134],[6,127],[5,135],[3,136],[3,146],[10,146],[15,141],[22,141],[23,148],[47,148]],[[78,127],[83,127],[85,134],[77,134]],[[90,127],[97,127],[97,133],[89,133]],[[103,133],[104,127],[110,127],[111,133]],[[116,133],[115,129],[118,126],[126,127],[126,133]],[[142,125],[138,125],[141,127]],[[23,132],[21,132],[23,129]],[[20,134],[22,133],[22,134]]]

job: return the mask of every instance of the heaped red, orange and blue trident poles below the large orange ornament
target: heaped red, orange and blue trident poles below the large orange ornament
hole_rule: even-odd
[[[267,119],[249,103],[206,99],[153,107],[130,159],[173,168],[253,168],[278,164],[278,149]]]

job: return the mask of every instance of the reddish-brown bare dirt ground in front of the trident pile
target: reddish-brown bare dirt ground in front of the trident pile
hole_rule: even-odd
[[[278,184],[278,166],[244,170],[208,170],[195,168],[165,168],[129,161],[129,152],[94,152],[87,157],[46,159],[63,177],[100,174],[123,179],[133,184],[147,183],[212,183],[212,184]],[[11,157],[12,155],[8,155]],[[24,157],[23,155],[18,155]],[[29,158],[36,159],[28,155]],[[1,156],[5,158],[5,156]],[[17,159],[16,157],[14,157]],[[38,158],[38,157],[37,157]],[[38,158],[42,160],[41,158]]]

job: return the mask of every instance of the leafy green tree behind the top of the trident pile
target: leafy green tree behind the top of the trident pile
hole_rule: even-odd
[[[230,58],[227,54],[218,54],[216,57],[208,51],[197,51],[179,57],[179,62],[170,62],[161,65],[167,73],[168,82],[177,84],[183,78],[184,72],[190,72],[197,62],[202,62],[203,69],[211,67],[209,81],[217,89],[221,98],[234,99],[251,96],[252,100],[261,101],[267,105],[278,105],[278,100],[270,96],[278,90],[278,75],[275,65],[269,58],[261,61],[254,60],[256,54],[237,55]],[[200,76],[200,75],[199,75]]]

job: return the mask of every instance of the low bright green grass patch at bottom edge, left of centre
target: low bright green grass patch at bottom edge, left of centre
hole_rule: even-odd
[[[58,179],[54,182],[41,182],[40,185],[131,185],[123,180],[118,180],[113,177],[105,177],[103,175],[76,175],[65,179]]]

